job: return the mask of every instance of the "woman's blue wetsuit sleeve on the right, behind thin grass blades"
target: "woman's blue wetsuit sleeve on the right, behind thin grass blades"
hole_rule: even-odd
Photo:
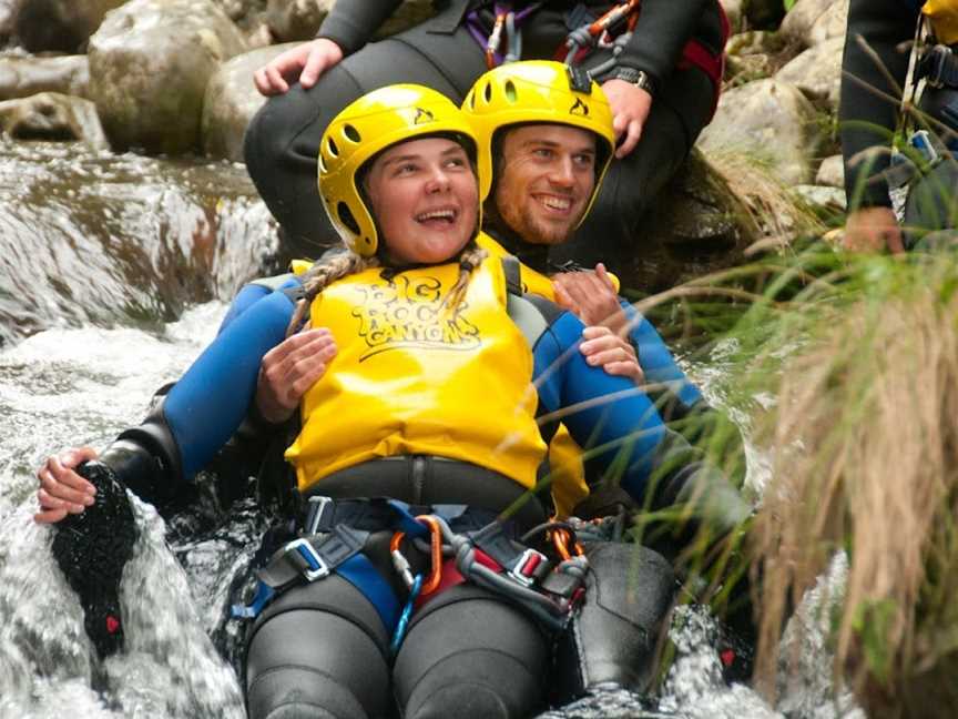
[[[622,467],[622,488],[644,502],[662,443],[676,435],[633,382],[585,362],[579,352],[583,328],[567,312],[536,343],[533,372],[541,409],[567,412],[561,421],[585,448],[587,464],[598,463],[604,470],[615,463]]]

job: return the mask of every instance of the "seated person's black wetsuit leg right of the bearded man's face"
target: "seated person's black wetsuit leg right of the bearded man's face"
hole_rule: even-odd
[[[639,144],[612,162],[585,221],[569,242],[550,249],[551,261],[574,261],[587,267],[603,262],[612,272],[623,273],[641,254],[643,215],[712,113],[712,83],[704,72],[676,72],[669,82],[669,91],[652,103]],[[675,99],[682,92],[686,94]]]

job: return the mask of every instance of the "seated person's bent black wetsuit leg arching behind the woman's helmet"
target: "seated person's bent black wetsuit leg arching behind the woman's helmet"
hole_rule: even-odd
[[[309,90],[298,83],[272,98],[246,130],[246,169],[286,233],[306,256],[338,241],[316,189],[316,153],[326,125],[360,95],[396,82],[415,82],[462,101],[486,70],[479,45],[460,28],[429,32],[427,21],[371,42],[332,68]]]

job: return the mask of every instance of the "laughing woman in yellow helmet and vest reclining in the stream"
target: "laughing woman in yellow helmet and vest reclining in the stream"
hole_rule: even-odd
[[[582,323],[521,293],[509,262],[477,246],[475,150],[458,109],[428,89],[386,88],[347,107],[320,142],[319,188],[349,252],[314,265],[295,305],[277,291],[248,307],[173,387],[161,417],[123,433],[99,463],[78,474],[50,460],[38,473],[37,520],[69,514],[58,538],[82,541],[78,515],[90,507],[95,524],[103,508],[86,502],[94,490],[81,474],[96,473],[98,496],[116,484],[147,500],[169,496],[166,483],[203,466],[238,426],[259,362],[287,327],[308,314],[328,328],[328,366],[303,396],[286,455],[309,510],[241,611],[256,616],[246,661],[254,719],[390,716],[390,683],[406,717],[544,707],[550,647],[589,580],[571,527],[543,525],[530,492],[546,448],[540,421],[561,414],[594,444],[592,460],[623,467],[638,500],[699,502],[687,496],[692,475],[709,469],[648,397],[590,366],[574,351]],[[686,462],[658,472],[663,453]],[[731,488],[712,487],[703,512],[733,523],[747,514],[727,504]],[[540,550],[543,528],[556,557]],[[611,547],[597,561],[618,567]],[[640,558],[663,594],[648,599],[639,626],[624,622],[626,654],[643,661],[619,671],[644,682],[672,583],[667,564]],[[88,604],[88,617],[99,608]],[[593,659],[577,671],[610,662]]]

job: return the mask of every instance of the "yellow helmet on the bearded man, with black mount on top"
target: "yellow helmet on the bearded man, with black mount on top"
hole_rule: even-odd
[[[615,152],[615,133],[605,93],[583,71],[551,60],[501,64],[476,81],[462,102],[462,111],[479,139],[482,201],[492,190],[492,140],[497,131],[520,123],[554,123],[593,132],[598,150],[595,189],[582,214],[584,219]]]

